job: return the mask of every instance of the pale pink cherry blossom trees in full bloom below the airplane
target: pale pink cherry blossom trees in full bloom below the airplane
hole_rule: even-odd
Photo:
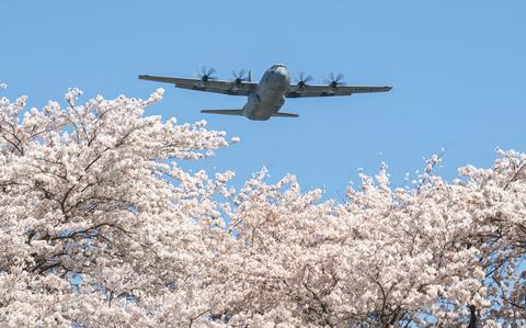
[[[5,327],[521,327],[526,155],[408,188],[382,166],[345,201],[262,170],[181,169],[228,145],[162,98],[0,100]],[[237,139],[235,139],[237,142]]]

